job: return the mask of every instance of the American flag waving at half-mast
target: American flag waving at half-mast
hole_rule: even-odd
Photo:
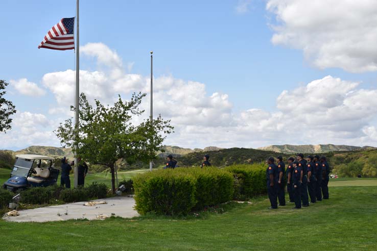
[[[43,41],[38,45],[39,48],[66,49],[75,48],[74,40],[75,18],[62,18],[53,28],[44,36]]]

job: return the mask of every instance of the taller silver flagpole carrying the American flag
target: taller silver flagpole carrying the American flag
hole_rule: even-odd
[[[75,93],[75,129],[78,134],[79,130],[79,96],[80,96],[80,39],[79,39],[79,0],[76,1],[76,93]],[[78,135],[77,135],[78,136]],[[77,161],[77,150],[78,144],[75,144],[75,187],[78,185],[78,161]]]

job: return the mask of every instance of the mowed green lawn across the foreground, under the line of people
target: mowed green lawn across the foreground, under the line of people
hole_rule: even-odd
[[[0,220],[0,250],[376,250],[377,186],[329,192],[329,200],[300,210],[267,210],[263,196],[201,219]]]

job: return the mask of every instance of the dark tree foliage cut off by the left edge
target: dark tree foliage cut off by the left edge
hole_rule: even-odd
[[[7,85],[7,82],[0,80],[0,133],[5,133],[12,128],[12,118],[10,116],[16,113],[13,103],[3,97],[7,93],[5,91]]]

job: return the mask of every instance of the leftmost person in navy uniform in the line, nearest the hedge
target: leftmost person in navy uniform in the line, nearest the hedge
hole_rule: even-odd
[[[275,165],[275,159],[270,157],[267,160],[267,170],[266,170],[266,179],[267,179],[267,191],[268,198],[270,199],[271,207],[269,209],[277,209],[277,187],[278,187],[278,177],[279,173],[277,166]]]

